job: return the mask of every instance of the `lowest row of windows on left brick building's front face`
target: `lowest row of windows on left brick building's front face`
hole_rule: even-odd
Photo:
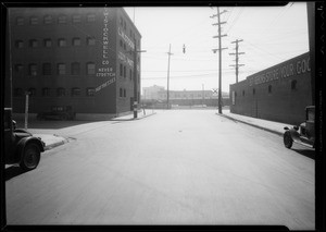
[[[64,97],[64,96],[67,96],[67,89],[65,88],[57,88],[54,89],[55,90],[55,96],[57,97]],[[14,97],[23,97],[26,93],[28,93],[29,96],[36,96],[36,88],[28,88],[26,91],[24,91],[23,88],[15,88],[14,89]],[[86,91],[85,91],[85,95],[87,97],[92,97],[95,95],[95,88],[86,88]],[[42,88],[41,89],[41,96],[42,97],[50,97],[51,96],[51,89],[50,88]],[[78,96],[82,96],[82,89],[80,88],[77,88],[77,87],[74,87],[71,89],[71,96],[73,97],[78,97]]]

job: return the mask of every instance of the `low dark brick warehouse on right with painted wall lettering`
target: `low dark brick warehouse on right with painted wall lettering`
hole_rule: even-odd
[[[310,53],[250,75],[229,87],[230,112],[299,124],[312,105]]]

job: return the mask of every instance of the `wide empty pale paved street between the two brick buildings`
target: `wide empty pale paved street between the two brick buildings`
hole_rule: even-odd
[[[315,227],[306,148],[214,110],[54,131],[70,143],[5,182],[8,224]]]

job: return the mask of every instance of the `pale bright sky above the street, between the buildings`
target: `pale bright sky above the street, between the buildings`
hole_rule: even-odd
[[[218,88],[217,8],[136,7],[124,8],[141,34],[141,88],[167,86],[168,49],[170,90],[209,90]],[[222,91],[236,83],[234,66],[236,44],[240,40],[238,81],[309,51],[305,2],[285,7],[221,7]],[[186,52],[183,52],[183,47]]]

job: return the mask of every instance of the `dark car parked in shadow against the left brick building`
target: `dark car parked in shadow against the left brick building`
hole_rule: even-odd
[[[49,112],[37,114],[38,120],[74,120],[76,112],[71,106],[53,106]]]

